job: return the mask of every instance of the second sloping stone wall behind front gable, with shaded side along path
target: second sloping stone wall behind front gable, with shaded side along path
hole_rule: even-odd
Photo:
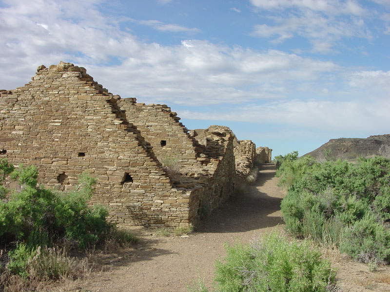
[[[190,222],[197,222],[205,212],[211,213],[233,194],[234,134],[229,128],[210,126],[204,130],[204,145],[200,145],[166,105],[145,105],[127,99],[122,99],[120,105],[160,161],[166,157],[177,159],[179,175],[171,178],[174,186],[202,187],[191,194]]]

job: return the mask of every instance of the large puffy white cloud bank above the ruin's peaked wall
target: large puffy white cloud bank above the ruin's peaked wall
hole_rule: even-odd
[[[338,70],[332,62],[275,50],[260,53],[201,40],[176,46],[145,43],[120,31],[117,19],[102,17],[90,3],[78,7],[76,19],[68,18],[76,1],[50,3],[35,2],[33,10],[21,2],[0,9],[4,27],[0,88],[16,88],[40,64],[64,60],[86,67],[98,82],[123,97],[188,105],[240,104],[282,98],[303,83],[315,87],[321,76]],[[43,23],[42,11],[50,16],[44,19],[45,27],[37,25]],[[107,66],[113,57],[118,64]]]

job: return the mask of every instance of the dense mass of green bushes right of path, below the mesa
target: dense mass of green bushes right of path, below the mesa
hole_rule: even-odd
[[[339,246],[363,262],[390,263],[390,161],[384,157],[285,160],[278,172],[289,231]]]

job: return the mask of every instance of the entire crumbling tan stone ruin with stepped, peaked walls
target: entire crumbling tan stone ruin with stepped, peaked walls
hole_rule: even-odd
[[[0,91],[0,158],[37,165],[40,182],[60,190],[88,171],[98,182],[91,204],[106,205],[119,225],[196,225],[255,161],[271,160],[271,149],[259,160],[263,152],[227,127],[189,131],[166,105],[121,99],[85,68],[60,62],[37,71]]]

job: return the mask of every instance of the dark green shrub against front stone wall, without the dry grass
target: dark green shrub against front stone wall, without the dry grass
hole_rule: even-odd
[[[78,189],[70,193],[56,193],[38,186],[35,166],[20,165],[11,176],[18,179],[22,188],[0,203],[2,244],[21,241],[32,249],[67,237],[85,248],[104,240],[112,228],[106,221],[107,210],[87,205],[95,183],[87,174],[80,176]]]

